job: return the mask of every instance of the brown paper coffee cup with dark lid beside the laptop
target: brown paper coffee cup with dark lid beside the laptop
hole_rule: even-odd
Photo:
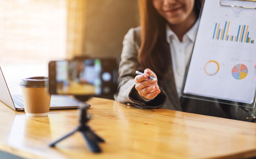
[[[23,78],[20,87],[27,116],[47,116],[51,95],[47,92],[48,77]]]

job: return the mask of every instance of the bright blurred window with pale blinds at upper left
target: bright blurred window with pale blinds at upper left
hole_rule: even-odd
[[[65,0],[0,2],[0,65],[45,64],[66,57]]]

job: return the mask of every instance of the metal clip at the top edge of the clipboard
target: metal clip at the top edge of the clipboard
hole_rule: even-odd
[[[220,0],[220,5],[225,7],[256,9],[256,0]]]

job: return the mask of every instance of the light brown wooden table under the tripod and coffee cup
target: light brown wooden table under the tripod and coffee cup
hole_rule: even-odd
[[[0,150],[25,158],[149,159],[256,156],[256,124],[166,109],[141,110],[92,98],[90,127],[105,143],[93,154],[80,133],[48,144],[78,125],[78,110],[27,117],[0,103]]]

